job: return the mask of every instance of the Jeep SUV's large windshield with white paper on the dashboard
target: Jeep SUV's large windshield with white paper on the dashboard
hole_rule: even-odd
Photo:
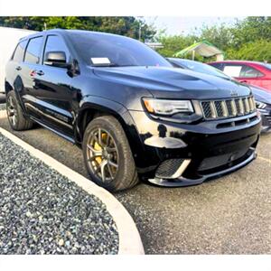
[[[72,33],[70,38],[81,57],[93,66],[173,67],[142,42],[106,33]]]

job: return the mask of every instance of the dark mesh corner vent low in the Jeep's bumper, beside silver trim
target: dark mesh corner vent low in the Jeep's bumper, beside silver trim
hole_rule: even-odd
[[[168,159],[165,160],[156,170],[156,178],[171,178],[174,173],[180,168],[183,159]]]

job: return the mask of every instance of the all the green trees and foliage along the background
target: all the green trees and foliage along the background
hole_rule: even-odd
[[[117,33],[135,39],[139,38],[140,28],[142,41],[154,38],[156,33],[153,25],[132,16],[0,17],[0,25],[35,31],[42,31],[46,25],[47,29],[83,29]],[[162,42],[164,45],[164,48],[159,49],[158,52],[165,57],[172,57],[174,53],[194,42],[206,40],[225,51],[228,59],[271,61],[271,17],[247,17],[242,21],[237,20],[231,26],[225,23],[210,27],[203,25],[200,33],[191,33],[186,36],[166,36],[164,30],[160,30],[155,36],[157,42]],[[192,55],[184,57],[191,59]],[[210,61],[197,54],[195,59]]]

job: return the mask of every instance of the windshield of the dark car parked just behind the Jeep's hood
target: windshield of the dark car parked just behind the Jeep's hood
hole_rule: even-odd
[[[214,67],[211,67],[208,64],[204,64],[197,61],[187,61],[187,60],[180,61],[180,64],[182,64],[182,66],[185,66],[189,70],[194,70],[194,71],[209,74],[209,75],[219,76],[225,79],[230,79],[230,77],[226,75],[224,72]]]

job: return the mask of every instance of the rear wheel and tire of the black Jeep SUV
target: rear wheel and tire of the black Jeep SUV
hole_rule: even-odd
[[[10,126],[16,131],[28,130],[33,127],[33,122],[23,116],[23,110],[16,98],[14,90],[6,95],[6,114]]]

